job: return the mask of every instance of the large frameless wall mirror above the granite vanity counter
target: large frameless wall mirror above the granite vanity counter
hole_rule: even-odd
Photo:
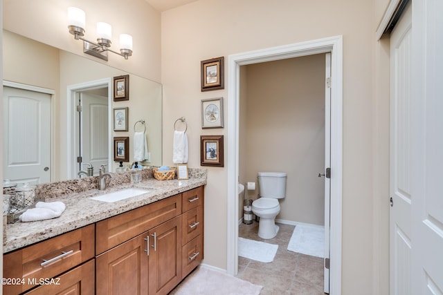
[[[129,100],[114,102],[113,77],[120,75],[129,75]],[[129,137],[128,165],[134,133],[143,131],[150,160],[142,164],[159,166],[161,108],[159,83],[3,30],[3,178],[67,180],[84,176],[78,173],[87,163],[95,174],[100,164],[114,172],[114,138]],[[116,110],[125,112],[127,128],[115,131]]]

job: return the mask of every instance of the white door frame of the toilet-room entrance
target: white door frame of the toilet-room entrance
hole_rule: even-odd
[[[343,36],[327,37],[296,44],[265,48],[228,57],[228,220],[227,272],[238,272],[238,179],[239,179],[239,67],[331,53],[331,204],[329,294],[341,294],[342,175],[343,175]]]

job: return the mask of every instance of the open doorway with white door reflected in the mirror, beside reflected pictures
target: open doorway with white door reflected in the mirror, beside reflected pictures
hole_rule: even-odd
[[[70,118],[68,139],[68,177],[80,177],[80,171],[112,164],[111,79],[68,86]]]

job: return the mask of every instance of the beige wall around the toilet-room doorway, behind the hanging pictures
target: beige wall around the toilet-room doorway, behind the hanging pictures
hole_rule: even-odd
[[[201,129],[201,99],[225,97],[225,112],[230,104],[229,85],[221,91],[200,91],[201,60],[343,35],[343,294],[387,293],[386,283],[375,276],[386,274],[388,260],[381,260],[380,252],[386,250],[388,239],[383,235],[374,245],[373,237],[380,227],[388,227],[383,223],[386,211],[374,208],[376,182],[382,194],[386,186],[386,178],[374,171],[375,164],[383,164],[388,151],[373,141],[379,136],[374,126],[388,95],[386,89],[377,91],[383,104],[376,104],[375,65],[383,73],[387,65],[374,60],[374,23],[378,21],[370,0],[205,0],[162,14],[163,127],[172,130],[177,117],[187,118],[190,166],[199,166],[199,135],[228,135],[226,128]],[[225,119],[233,115],[225,113]],[[382,120],[380,128],[386,129],[385,123]],[[170,164],[172,134],[165,133],[163,155],[164,163]],[[383,172],[385,168],[381,167]],[[205,220],[210,229],[205,232],[205,263],[221,268],[226,267],[227,173],[226,167],[211,167],[206,187],[206,209],[211,214]],[[383,220],[381,225],[376,218]]]

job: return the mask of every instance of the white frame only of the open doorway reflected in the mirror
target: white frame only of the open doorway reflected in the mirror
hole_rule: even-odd
[[[76,178],[75,175],[75,163],[73,163],[73,158],[75,158],[75,144],[77,141],[75,139],[75,131],[78,126],[75,126],[75,116],[77,115],[77,93],[80,91],[87,91],[96,88],[108,88],[108,170],[112,169],[112,79],[98,79],[89,82],[84,82],[80,84],[73,84],[67,86],[68,106],[66,108],[66,140],[68,147],[67,159],[66,159],[66,175],[68,179]]]

